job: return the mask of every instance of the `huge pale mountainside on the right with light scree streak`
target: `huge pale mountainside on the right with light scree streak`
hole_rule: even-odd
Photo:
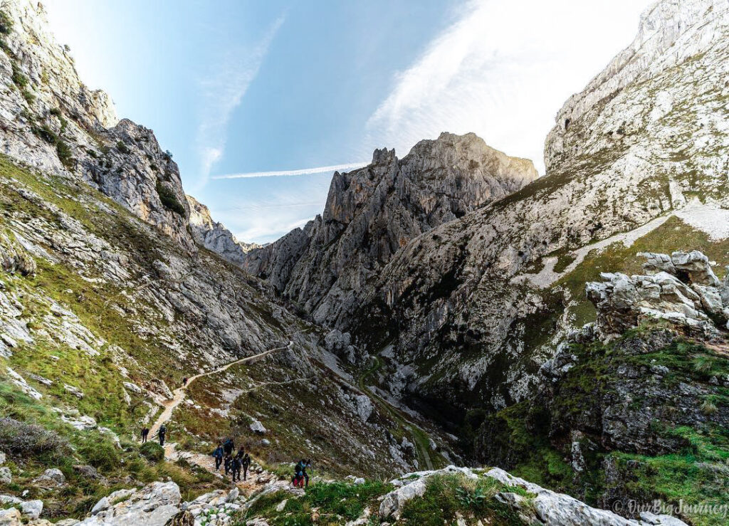
[[[415,238],[351,321],[385,385],[459,423],[539,385],[571,327],[594,319],[582,292],[607,260],[727,238],[729,6],[662,1],[639,37],[547,138],[545,177]],[[384,370],[383,370],[384,372]]]

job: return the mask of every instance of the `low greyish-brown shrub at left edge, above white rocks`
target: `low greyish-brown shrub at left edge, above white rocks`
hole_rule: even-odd
[[[69,444],[54,431],[12,418],[0,419],[0,449],[22,457],[51,455],[61,457]]]

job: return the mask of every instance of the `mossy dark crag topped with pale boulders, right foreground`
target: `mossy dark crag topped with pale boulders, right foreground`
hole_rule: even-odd
[[[677,516],[722,524],[692,506],[729,491],[729,282],[698,251],[643,256],[642,275],[588,283],[597,321],[542,365],[539,393],[486,416],[477,450],[626,517],[680,500]]]

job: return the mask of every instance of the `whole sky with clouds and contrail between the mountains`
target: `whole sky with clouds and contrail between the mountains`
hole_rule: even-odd
[[[321,212],[332,170],[307,169],[376,147],[474,131],[542,173],[554,115],[649,0],[44,4],[82,79],[155,130],[187,192],[268,242]]]

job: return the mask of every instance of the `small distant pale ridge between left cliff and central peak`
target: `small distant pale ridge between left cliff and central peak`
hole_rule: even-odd
[[[208,250],[216,252],[223,259],[241,266],[246,259],[246,252],[253,248],[260,248],[256,243],[241,243],[235,239],[225,225],[213,221],[210,210],[206,205],[199,203],[195,197],[187,195],[187,204],[190,206],[190,229],[192,237]]]

